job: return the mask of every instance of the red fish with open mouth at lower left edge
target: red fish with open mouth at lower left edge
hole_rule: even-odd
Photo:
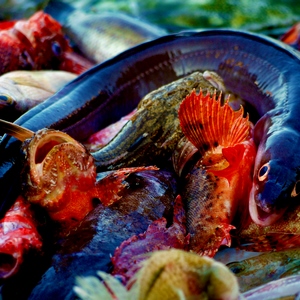
[[[41,248],[30,203],[19,196],[0,221],[0,278],[16,274],[27,252]]]

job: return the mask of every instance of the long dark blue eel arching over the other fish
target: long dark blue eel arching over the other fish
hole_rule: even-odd
[[[84,140],[132,111],[150,91],[194,71],[215,71],[261,117],[254,129],[258,155],[250,211],[256,223],[267,225],[297,201],[299,192],[299,58],[291,47],[248,32],[167,35],[88,70],[16,123],[33,131],[53,127]],[[7,199],[20,168],[20,144],[5,137],[0,147],[3,212],[11,205]]]

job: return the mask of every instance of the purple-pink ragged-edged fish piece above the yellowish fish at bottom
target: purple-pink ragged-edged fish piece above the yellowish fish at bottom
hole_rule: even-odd
[[[190,236],[186,233],[185,221],[182,199],[178,195],[174,203],[173,223],[167,226],[166,218],[162,217],[153,221],[144,233],[122,242],[111,258],[111,274],[127,285],[149,256],[147,254],[171,248],[188,250]]]

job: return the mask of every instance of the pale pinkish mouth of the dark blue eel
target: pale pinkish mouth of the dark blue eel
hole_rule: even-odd
[[[252,221],[257,225],[260,226],[272,225],[282,217],[285,211],[286,209],[273,211],[268,207],[263,209],[255,201],[254,188],[251,189],[250,199],[249,199],[249,213]]]

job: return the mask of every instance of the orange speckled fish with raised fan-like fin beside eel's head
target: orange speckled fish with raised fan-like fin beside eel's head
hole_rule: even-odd
[[[228,101],[221,105],[221,95],[195,91],[181,103],[179,119],[201,155],[182,189],[190,249],[212,257],[221,245],[231,245],[239,202],[249,197],[256,154],[252,124],[242,107],[233,111]]]

